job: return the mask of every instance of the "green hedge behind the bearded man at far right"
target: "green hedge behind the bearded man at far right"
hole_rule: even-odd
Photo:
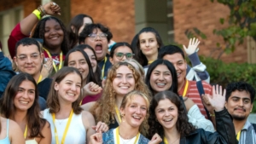
[[[226,87],[231,82],[247,82],[256,89],[256,64],[248,63],[224,63],[221,60],[200,57],[202,63],[207,66],[211,78],[211,84],[221,84]],[[256,112],[256,100],[254,100],[253,112]]]

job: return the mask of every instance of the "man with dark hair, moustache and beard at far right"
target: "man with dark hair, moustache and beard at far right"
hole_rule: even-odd
[[[233,117],[237,141],[239,144],[256,143],[256,125],[247,119],[253,109],[255,89],[250,84],[238,82],[228,84],[226,91],[225,107]]]

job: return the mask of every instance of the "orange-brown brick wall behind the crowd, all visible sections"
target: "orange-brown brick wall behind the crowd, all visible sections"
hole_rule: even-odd
[[[111,32],[113,32],[114,41],[131,43],[136,30],[135,0],[126,0],[125,3],[121,3],[119,0],[72,0],[70,3],[72,18],[76,14],[89,14],[95,22],[100,22],[110,28]],[[41,0],[3,0],[0,1],[0,13],[21,6],[24,11],[24,17],[26,17],[32,13],[33,9],[37,9],[40,4]],[[173,0],[173,7],[175,41],[188,44],[189,39],[184,32],[193,27],[198,27],[201,32],[207,35],[207,40],[201,39],[199,55],[218,58],[221,50],[216,49],[216,43],[224,44],[224,41],[222,37],[213,35],[212,31],[213,29],[224,27],[219,24],[219,18],[225,18],[229,14],[229,9],[224,5],[211,3],[210,0],[199,0],[196,3],[187,0]],[[233,54],[223,54],[221,59],[225,62],[246,62],[246,43],[236,47],[236,51]]]

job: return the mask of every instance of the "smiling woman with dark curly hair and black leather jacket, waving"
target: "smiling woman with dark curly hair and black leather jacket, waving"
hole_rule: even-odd
[[[219,89],[219,90],[218,90]],[[178,95],[172,91],[163,91],[154,95],[149,107],[149,138],[158,134],[164,144],[203,144],[203,143],[236,143],[235,128],[232,118],[224,108],[225,90],[212,88],[213,95],[207,95],[214,107],[216,116],[216,132],[208,132],[202,129],[195,129],[189,123],[189,118],[183,108]],[[229,134],[229,135],[227,135]]]

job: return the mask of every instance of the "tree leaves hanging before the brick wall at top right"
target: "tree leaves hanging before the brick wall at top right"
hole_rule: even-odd
[[[214,0],[210,0],[212,3]],[[215,29],[214,34],[223,37],[224,43],[216,43],[217,48],[221,48],[227,54],[234,52],[236,44],[242,44],[245,37],[253,37],[256,40],[256,0],[215,0],[226,5],[230,9],[230,14],[225,18],[220,18],[219,23],[228,26],[224,29]],[[187,37],[195,35],[207,38],[203,32],[196,27],[185,32]]]

